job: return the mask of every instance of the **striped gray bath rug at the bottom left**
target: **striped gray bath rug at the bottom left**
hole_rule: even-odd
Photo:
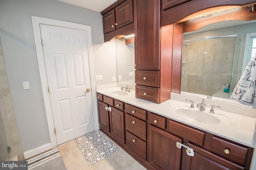
[[[66,170],[58,148],[27,159],[28,170]]]

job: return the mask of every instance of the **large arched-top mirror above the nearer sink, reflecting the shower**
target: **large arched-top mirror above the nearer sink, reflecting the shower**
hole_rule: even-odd
[[[181,94],[230,99],[251,59],[255,28],[256,20],[222,21],[184,33]]]

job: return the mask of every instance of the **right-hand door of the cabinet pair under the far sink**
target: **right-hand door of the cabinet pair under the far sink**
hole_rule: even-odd
[[[110,133],[124,143],[124,112],[114,107],[110,111]]]

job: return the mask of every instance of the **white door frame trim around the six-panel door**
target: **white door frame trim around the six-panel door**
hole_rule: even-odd
[[[48,92],[48,81],[46,76],[46,68],[44,64],[44,52],[43,52],[42,43],[41,43],[40,24],[68,27],[73,29],[81,29],[81,30],[85,30],[88,33],[86,35],[87,35],[87,44],[88,44],[90,79],[91,79],[91,87],[92,87],[92,90],[91,90],[92,111],[93,111],[93,118],[94,118],[94,130],[98,130],[99,123],[98,123],[98,114],[97,114],[96,84],[95,84],[95,73],[94,73],[94,64],[93,64],[94,61],[93,61],[93,54],[92,54],[91,27],[88,25],[82,25],[82,24],[70,23],[66,21],[52,20],[48,18],[40,18],[40,17],[32,16],[32,25],[33,25],[33,31],[34,31],[35,44],[36,44],[36,55],[37,55],[40,80],[42,85],[44,106],[46,110],[46,118],[48,122],[48,130],[49,130],[52,148],[55,148],[57,147],[57,141],[56,141],[56,136],[54,134],[54,120],[52,117],[50,94]]]

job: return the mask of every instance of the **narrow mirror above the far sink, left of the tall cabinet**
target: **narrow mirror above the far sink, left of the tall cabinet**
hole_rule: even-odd
[[[116,39],[116,70],[117,82],[133,85],[134,73],[134,41],[127,43],[127,39]]]

